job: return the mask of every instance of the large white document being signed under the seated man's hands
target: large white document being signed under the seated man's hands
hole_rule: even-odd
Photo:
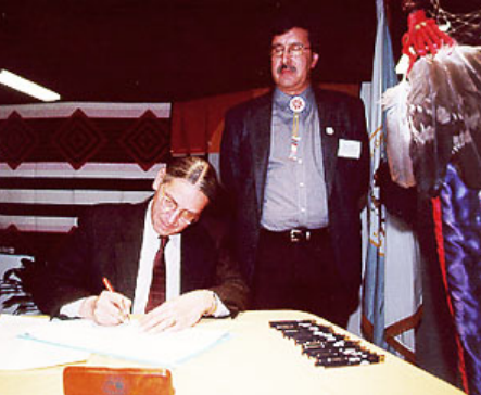
[[[142,332],[135,320],[117,327],[101,327],[78,319],[30,328],[21,337],[169,368],[228,339],[229,333],[193,327],[179,332],[150,334]]]

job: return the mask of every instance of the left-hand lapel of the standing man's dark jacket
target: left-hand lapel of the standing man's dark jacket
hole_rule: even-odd
[[[257,199],[257,212],[261,213],[264,200],[264,187],[267,174],[267,164],[270,153],[270,124],[273,117],[273,94],[262,97],[257,104],[257,111],[245,127],[251,132],[252,163],[254,164],[255,196]]]

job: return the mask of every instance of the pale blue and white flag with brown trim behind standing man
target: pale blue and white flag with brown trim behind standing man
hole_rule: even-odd
[[[414,327],[418,323],[421,304],[418,244],[412,230],[390,216],[380,204],[380,190],[374,180],[385,152],[381,97],[397,84],[382,0],[377,0],[377,18],[372,80],[362,89],[372,170],[367,208],[362,329],[375,344],[414,360]]]

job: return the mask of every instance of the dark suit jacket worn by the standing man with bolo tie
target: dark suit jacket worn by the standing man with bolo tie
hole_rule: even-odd
[[[364,106],[359,99],[343,93],[320,90],[315,94],[336,265],[345,281],[342,286],[355,297],[362,271],[360,200],[369,184],[369,146]],[[273,94],[269,93],[230,110],[226,115],[220,149],[221,180],[236,206],[237,256],[250,283],[255,270],[270,151],[271,106]],[[333,133],[326,131],[328,127],[333,129]],[[360,157],[339,156],[341,139],[360,142]]]

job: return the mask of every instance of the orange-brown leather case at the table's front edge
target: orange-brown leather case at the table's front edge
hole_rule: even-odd
[[[168,369],[68,366],[65,395],[174,395]]]

